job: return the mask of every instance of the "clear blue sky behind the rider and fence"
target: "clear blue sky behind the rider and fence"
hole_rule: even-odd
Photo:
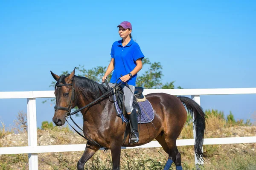
[[[256,1],[1,1],[0,16],[0,91],[53,90],[50,71],[108,66],[125,20],[145,57],[163,65],[163,83],[256,87]],[[54,114],[43,100],[38,127]],[[201,96],[205,110],[232,111],[236,119],[255,115],[255,101],[253,94]],[[26,99],[0,99],[0,108],[8,126],[26,112]]]

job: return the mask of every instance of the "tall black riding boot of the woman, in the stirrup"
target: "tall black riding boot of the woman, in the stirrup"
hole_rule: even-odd
[[[138,132],[138,118],[136,110],[132,110],[131,114],[128,114],[128,119],[131,125],[131,136],[130,136],[130,144],[135,144],[139,142],[139,132]]]

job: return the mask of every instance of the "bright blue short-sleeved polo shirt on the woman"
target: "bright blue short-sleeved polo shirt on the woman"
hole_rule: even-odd
[[[111,83],[116,83],[116,79],[121,77],[121,74],[124,76],[133,71],[136,67],[136,60],[144,58],[140,46],[132,39],[124,47],[122,46],[122,40],[114,42],[110,55],[111,58],[114,59],[114,71],[110,80]],[[135,86],[136,78],[137,74],[133,75],[133,77],[127,81],[128,85]],[[121,80],[119,79],[118,82],[120,81]]]

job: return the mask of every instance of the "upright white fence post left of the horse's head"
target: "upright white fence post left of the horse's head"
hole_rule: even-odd
[[[37,125],[35,98],[27,99],[28,143],[31,147],[37,146]],[[38,154],[29,153],[29,170],[38,170]]]

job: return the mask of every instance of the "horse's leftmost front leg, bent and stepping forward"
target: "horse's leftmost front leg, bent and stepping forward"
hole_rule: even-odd
[[[89,141],[86,144],[83,156],[77,162],[77,169],[84,170],[84,164],[99,150],[99,146],[91,144]]]

